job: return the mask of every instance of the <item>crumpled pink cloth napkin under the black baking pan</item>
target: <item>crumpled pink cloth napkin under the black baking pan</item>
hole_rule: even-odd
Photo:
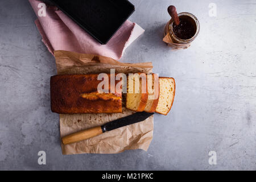
[[[28,1],[38,16],[40,9],[38,5],[41,2]],[[126,47],[144,32],[138,24],[127,20],[106,45],[101,45],[72,19],[53,6],[47,6],[46,16],[38,16],[35,24],[42,36],[43,43],[52,54],[55,50],[64,50],[107,56],[116,60],[119,60]]]

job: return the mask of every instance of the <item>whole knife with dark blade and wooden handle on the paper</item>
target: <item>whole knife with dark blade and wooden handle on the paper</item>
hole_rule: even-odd
[[[114,129],[118,129],[119,127],[131,125],[134,123],[138,123],[141,121],[144,121],[154,113],[146,113],[146,112],[138,112],[131,115],[128,115],[127,117],[116,119],[114,121],[108,122],[105,125],[93,127],[90,129],[82,130],[77,133],[73,133],[70,135],[67,135],[62,138],[63,144],[69,144],[69,143],[75,143],[80,142],[82,140],[96,137],[97,135],[100,135],[102,133],[105,133],[106,131],[111,131]]]

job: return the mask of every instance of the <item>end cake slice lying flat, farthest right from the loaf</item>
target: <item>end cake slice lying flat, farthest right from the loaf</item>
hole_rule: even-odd
[[[156,113],[167,115],[171,110],[175,96],[174,78],[159,77],[159,101],[156,107]]]

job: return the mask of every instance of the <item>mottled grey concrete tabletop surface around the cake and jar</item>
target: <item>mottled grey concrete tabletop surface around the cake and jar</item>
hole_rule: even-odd
[[[28,1],[1,0],[0,169],[256,169],[256,1],[131,2],[130,20],[146,31],[121,61],[152,61],[155,73],[176,79],[174,106],[155,116],[148,151],[61,155],[59,115],[49,100],[55,60]],[[208,14],[212,2],[217,17]],[[170,51],[162,42],[170,4],[200,20],[187,50]],[[41,150],[46,165],[38,164]],[[209,151],[216,151],[216,165],[208,163]]]

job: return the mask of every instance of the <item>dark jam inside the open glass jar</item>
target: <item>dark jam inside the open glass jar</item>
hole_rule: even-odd
[[[189,16],[180,16],[180,24],[172,24],[172,31],[180,39],[191,39],[196,34],[195,21]]]

